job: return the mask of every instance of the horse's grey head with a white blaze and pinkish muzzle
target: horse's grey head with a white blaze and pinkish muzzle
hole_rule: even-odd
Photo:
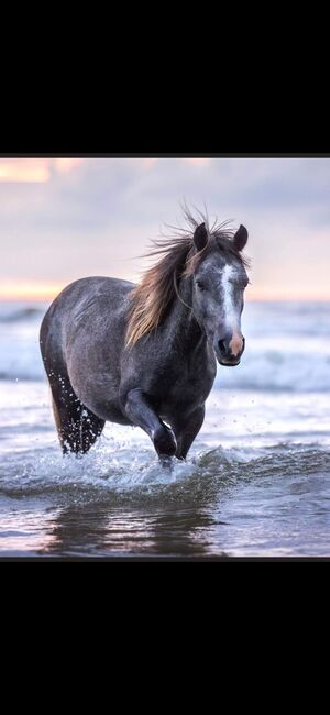
[[[194,273],[193,310],[221,365],[238,365],[244,351],[241,315],[249,278],[240,253],[246,241],[244,226],[231,241],[210,240],[205,223],[194,234],[196,250],[207,250]]]

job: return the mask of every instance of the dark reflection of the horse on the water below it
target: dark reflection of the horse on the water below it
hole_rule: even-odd
[[[42,551],[61,556],[207,556],[198,532],[211,527],[212,517],[199,509],[161,512],[113,509],[100,503],[61,510]],[[92,546],[91,546],[92,544]]]

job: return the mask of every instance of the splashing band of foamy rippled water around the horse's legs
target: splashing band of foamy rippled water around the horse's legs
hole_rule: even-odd
[[[153,450],[132,450],[128,444],[100,442],[84,457],[62,457],[57,446],[47,452],[24,451],[21,458],[10,455],[0,468],[0,493],[8,496],[72,493],[116,502],[125,498],[213,497],[234,484],[267,481],[284,483],[295,475],[329,472],[330,452],[318,444],[288,444],[237,449],[218,447],[204,450],[186,462],[172,460],[162,466]]]

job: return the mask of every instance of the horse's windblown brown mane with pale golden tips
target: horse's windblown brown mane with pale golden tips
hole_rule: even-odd
[[[178,296],[177,285],[180,278],[193,275],[200,261],[212,246],[217,245],[226,253],[232,253],[248,265],[248,260],[239,253],[232,239],[234,231],[228,229],[228,221],[209,228],[208,217],[198,211],[199,219],[188,209],[184,209],[187,228],[168,227],[173,235],[162,237],[152,241],[153,249],[145,256],[158,256],[161,260],[145,271],[142,280],[130,294],[131,309],[127,330],[127,346],[133,346],[163,321],[165,314]],[[197,251],[194,244],[194,233],[197,227],[205,222],[208,230],[208,242],[205,249]],[[178,296],[179,297],[179,296]]]

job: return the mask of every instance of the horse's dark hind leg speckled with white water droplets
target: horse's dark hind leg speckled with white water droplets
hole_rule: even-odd
[[[85,454],[96,442],[105,427],[105,420],[91,413],[76,397],[68,378],[52,381],[53,411],[64,454]]]

